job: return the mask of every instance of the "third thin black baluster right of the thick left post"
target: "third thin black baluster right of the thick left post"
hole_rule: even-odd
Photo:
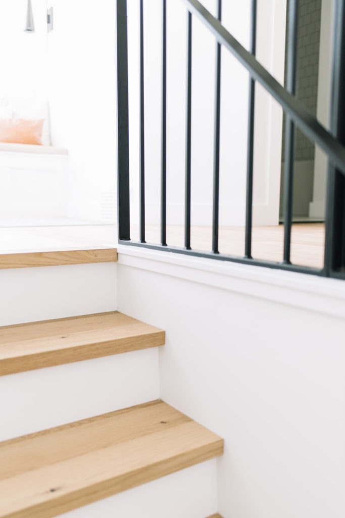
[[[190,250],[190,171],[191,171],[191,107],[192,107],[192,15],[187,15],[187,105],[186,105],[186,186],[185,248]]]

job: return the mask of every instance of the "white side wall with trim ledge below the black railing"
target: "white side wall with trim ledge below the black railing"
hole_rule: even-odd
[[[118,308],[166,330],[161,397],[225,439],[220,514],[342,518],[340,283],[128,248]]]

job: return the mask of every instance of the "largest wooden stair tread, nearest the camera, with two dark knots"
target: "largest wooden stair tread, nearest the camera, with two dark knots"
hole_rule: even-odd
[[[0,443],[0,518],[51,518],[217,457],[223,440],[157,400]]]

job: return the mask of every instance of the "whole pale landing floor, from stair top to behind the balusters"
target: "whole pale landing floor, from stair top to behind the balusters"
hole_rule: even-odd
[[[147,225],[146,240],[159,242],[159,226]],[[169,226],[168,242],[183,247],[184,227]],[[138,239],[138,228],[132,228],[132,238]],[[212,228],[193,226],[191,246],[211,250]],[[117,246],[115,225],[47,226],[0,228],[0,253],[53,250],[81,250]],[[244,255],[244,228],[220,227],[219,250],[222,253]],[[280,262],[283,251],[283,226],[254,227],[252,255],[255,258]],[[292,262],[321,268],[324,253],[324,225],[298,223],[292,229]]]

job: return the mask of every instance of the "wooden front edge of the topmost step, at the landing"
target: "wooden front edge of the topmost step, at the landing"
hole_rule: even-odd
[[[111,263],[117,261],[116,248],[0,254],[0,269],[70,264]]]

